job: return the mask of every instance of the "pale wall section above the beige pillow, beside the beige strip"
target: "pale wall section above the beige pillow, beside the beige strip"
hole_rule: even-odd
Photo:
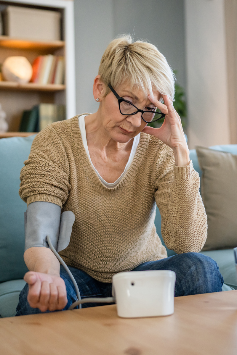
[[[224,0],[185,0],[185,18],[189,149],[230,144]]]

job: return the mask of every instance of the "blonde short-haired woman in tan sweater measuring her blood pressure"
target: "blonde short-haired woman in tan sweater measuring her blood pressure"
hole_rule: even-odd
[[[41,228],[44,238],[52,224],[58,230],[61,208],[76,217],[61,256],[82,298],[110,296],[112,276],[131,270],[173,270],[175,296],[221,291],[217,264],[198,254],[207,219],[199,175],[172,105],[174,78],[165,57],[130,36],[113,40],[93,95],[98,111],[47,126],[34,139],[21,171],[20,196],[32,229],[24,254],[30,271],[17,315],[68,309],[76,300],[68,274],[45,240],[29,242]],[[154,129],[147,122],[162,116],[157,108],[165,121]],[[156,204],[163,240],[178,255],[167,258],[156,234]],[[97,304],[82,307],[92,305]]]

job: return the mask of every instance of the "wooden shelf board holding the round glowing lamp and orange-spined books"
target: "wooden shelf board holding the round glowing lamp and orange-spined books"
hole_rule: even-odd
[[[19,84],[13,81],[0,81],[0,90],[18,90],[18,91],[62,91],[66,86],[63,84],[41,85],[37,83]]]

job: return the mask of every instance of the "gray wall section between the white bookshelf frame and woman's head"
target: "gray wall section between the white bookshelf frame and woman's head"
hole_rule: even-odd
[[[111,0],[75,0],[75,56],[77,113],[95,112],[93,80],[101,57],[114,37]]]

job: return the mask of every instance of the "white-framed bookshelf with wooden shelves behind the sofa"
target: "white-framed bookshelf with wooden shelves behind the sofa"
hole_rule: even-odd
[[[12,1],[0,1],[0,5],[13,5]],[[76,114],[75,97],[75,49],[74,49],[74,2],[73,0],[18,0],[16,6],[26,6],[61,12],[61,40],[47,41],[26,38],[11,38],[0,35],[0,63],[8,56],[25,56],[32,64],[39,55],[52,54],[65,58],[65,84],[38,83],[19,84],[0,81],[0,103],[7,114],[9,132],[0,137],[24,136],[18,132],[24,110],[40,103],[64,104],[66,119]],[[20,134],[22,133],[22,134]],[[27,133],[25,136],[29,135]]]

